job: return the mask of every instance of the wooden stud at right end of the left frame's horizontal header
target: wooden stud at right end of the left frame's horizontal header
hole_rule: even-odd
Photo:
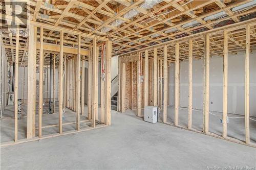
[[[90,48],[90,55],[88,58],[88,119],[92,119],[92,48]]]

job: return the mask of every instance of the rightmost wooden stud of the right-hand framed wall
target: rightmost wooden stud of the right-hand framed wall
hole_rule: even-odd
[[[249,77],[250,77],[250,26],[246,25],[246,42],[245,42],[245,143],[250,143],[250,101],[249,101]]]

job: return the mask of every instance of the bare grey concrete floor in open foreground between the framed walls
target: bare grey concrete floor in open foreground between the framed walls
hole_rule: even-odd
[[[2,169],[228,166],[255,167],[256,149],[161,123],[146,123],[135,116],[135,110],[112,110],[110,127],[1,148]]]

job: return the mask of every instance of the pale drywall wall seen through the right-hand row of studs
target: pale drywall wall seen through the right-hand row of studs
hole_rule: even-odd
[[[245,53],[228,55],[228,113],[244,115]],[[169,67],[169,105],[174,105],[174,63]],[[256,116],[256,54],[250,54],[250,115]],[[223,58],[210,58],[210,111],[222,112]],[[180,107],[188,107],[188,61],[180,63]],[[203,59],[193,60],[193,108],[203,109]]]

